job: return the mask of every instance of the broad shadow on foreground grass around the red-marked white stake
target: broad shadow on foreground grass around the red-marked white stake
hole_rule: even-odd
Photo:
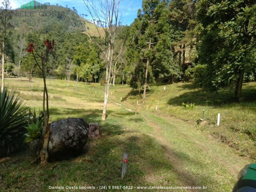
[[[213,180],[204,174],[204,164],[193,157],[165,147],[147,134],[127,132],[121,125],[102,123],[101,138],[88,144],[88,153],[47,165],[31,165],[28,154],[6,160],[1,170],[3,182],[0,188],[30,190],[34,186],[45,191],[49,186],[74,185],[202,186],[202,182],[211,183]],[[122,180],[124,152],[128,154],[128,163]],[[202,173],[193,175],[186,169],[188,164],[202,168]]]

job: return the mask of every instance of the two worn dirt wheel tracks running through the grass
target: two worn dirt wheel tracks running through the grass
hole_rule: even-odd
[[[142,113],[141,115],[146,120],[147,124],[150,127],[154,128],[153,136],[163,146],[166,147],[165,151],[166,151],[166,154],[167,154],[168,158],[170,159],[170,161],[174,164],[177,162],[180,162],[180,159],[177,156],[175,156],[172,153],[172,151],[169,150],[169,148],[168,148],[168,147],[172,148],[172,146],[167,141],[167,138],[164,135],[163,124],[153,121],[147,115],[145,115],[145,113],[144,114]],[[167,124],[174,123],[177,125],[176,119],[173,120],[170,118],[164,118],[164,120],[166,121]],[[193,129],[193,132],[196,133],[196,130],[195,130],[195,128],[193,128],[192,125],[185,123],[185,122],[180,122],[180,124],[186,124],[187,129]],[[193,133],[192,134],[191,134],[191,132],[189,133],[187,129],[179,129],[178,131],[180,132],[182,137],[186,137],[188,140],[192,141],[192,143],[194,143],[194,145],[195,145],[195,148],[198,148],[199,151],[204,151],[204,154],[202,154],[202,155],[208,156],[209,158],[211,158],[212,161],[225,167],[231,175],[234,175],[235,178],[236,178],[237,173],[241,170],[241,168],[245,164],[250,162],[249,159],[237,156],[236,154],[232,153],[233,149],[228,148],[228,146],[226,146],[222,143],[219,143],[217,140],[212,138],[211,135],[204,135],[204,133],[200,133],[200,134],[202,134],[202,137],[201,137],[201,139],[199,138],[199,140],[198,140],[198,137],[193,137]],[[205,139],[206,139],[207,143],[205,143]],[[219,151],[215,151],[216,146],[219,149]],[[228,151],[229,154],[225,154],[224,150],[229,150]],[[221,153],[219,153],[220,151],[221,151]],[[230,154],[232,154],[232,156],[230,156]]]

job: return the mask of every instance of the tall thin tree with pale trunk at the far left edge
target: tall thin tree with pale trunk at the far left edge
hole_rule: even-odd
[[[9,0],[4,0],[2,2],[3,6],[0,7],[0,33],[2,37],[2,84],[1,89],[4,89],[4,41],[7,35],[8,28],[11,27],[10,20],[12,19],[12,14],[10,14],[10,10],[12,7],[10,6]]]

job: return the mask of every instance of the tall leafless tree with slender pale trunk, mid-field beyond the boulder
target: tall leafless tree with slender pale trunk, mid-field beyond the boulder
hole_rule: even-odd
[[[106,59],[106,84],[102,120],[106,119],[108,92],[112,79],[112,65],[120,56],[119,53],[115,54],[114,51],[116,36],[122,30],[122,26],[120,26],[122,15],[119,15],[119,3],[120,0],[97,1],[97,3],[96,1],[84,0],[86,11],[92,17],[92,20],[98,21],[98,25],[95,25],[95,27],[99,34],[100,43],[96,41],[94,36],[92,36],[90,30],[88,30],[88,27],[86,26],[85,20],[81,18],[81,22],[85,27],[87,34],[99,46]],[[101,33],[102,30],[104,32]]]

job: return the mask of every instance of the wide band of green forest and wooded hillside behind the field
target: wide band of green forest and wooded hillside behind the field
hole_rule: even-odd
[[[86,20],[75,7],[60,5],[47,4],[47,12],[55,12],[50,17],[35,10],[33,18],[21,19],[19,11],[8,10],[8,35],[0,34],[7,75],[40,77],[26,47],[33,42],[40,49],[41,41],[51,38],[56,46],[48,78],[104,83],[106,60],[81,22],[100,44],[100,21]],[[3,21],[0,26],[3,31]],[[155,83],[191,81],[214,91],[231,85],[240,98],[243,82],[255,80],[255,1],[143,0],[132,24],[118,27],[115,46],[123,51],[113,66],[113,85],[130,84],[139,92],[144,87],[144,93]]]

